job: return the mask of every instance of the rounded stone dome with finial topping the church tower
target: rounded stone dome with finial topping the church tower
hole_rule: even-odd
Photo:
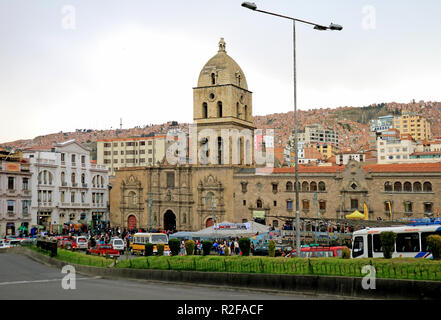
[[[225,50],[224,38],[219,41],[219,51],[204,65],[199,74],[198,87],[232,84],[248,90],[242,69]]]

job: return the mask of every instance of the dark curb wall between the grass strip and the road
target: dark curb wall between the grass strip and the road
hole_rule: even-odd
[[[60,261],[23,247],[6,249],[5,253],[23,254],[39,263],[62,268],[70,263]],[[280,293],[339,296],[355,299],[440,299],[441,281],[376,279],[374,290],[362,287],[362,278],[279,275],[227,272],[100,268],[73,265],[80,274],[108,279],[160,281],[180,284],[210,285]]]

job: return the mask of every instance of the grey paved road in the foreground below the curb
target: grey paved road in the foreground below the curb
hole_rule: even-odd
[[[152,281],[109,280],[76,274],[76,289],[62,289],[66,274],[18,254],[0,254],[0,300],[309,300],[330,297],[180,285]]]

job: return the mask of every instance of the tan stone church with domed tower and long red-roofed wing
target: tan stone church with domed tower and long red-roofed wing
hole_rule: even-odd
[[[281,227],[295,216],[294,168],[255,164],[252,92],[223,39],[202,68],[193,98],[191,161],[164,158],[117,170],[111,226],[197,231],[213,220],[254,220]],[[344,218],[365,205],[371,220],[436,216],[440,190],[440,163],[299,166],[302,218]]]

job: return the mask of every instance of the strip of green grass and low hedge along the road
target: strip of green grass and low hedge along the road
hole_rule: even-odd
[[[38,248],[32,249],[49,255]],[[94,267],[110,267],[114,262],[112,259],[64,249],[58,249],[58,255],[55,259]],[[366,265],[375,267],[377,278],[441,281],[441,261],[415,258],[306,259],[215,255],[150,256],[119,260],[114,268],[364,277],[366,274],[362,273],[362,269]]]

